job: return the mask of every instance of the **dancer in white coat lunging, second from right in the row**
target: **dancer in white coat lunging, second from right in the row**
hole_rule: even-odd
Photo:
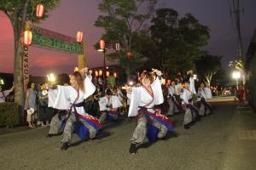
[[[183,110],[185,111],[184,115],[184,128],[188,129],[192,122],[195,122],[199,117],[198,111],[193,105],[193,93],[189,89],[189,82],[183,82],[183,88],[180,94],[180,98],[183,99],[182,105]]]

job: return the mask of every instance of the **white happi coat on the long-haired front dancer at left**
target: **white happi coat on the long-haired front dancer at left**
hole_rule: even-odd
[[[96,87],[90,82],[89,77],[84,78],[84,92],[79,90],[79,94],[72,86],[57,86],[57,89],[49,89],[49,107],[53,107],[58,110],[68,110],[71,105],[75,102],[76,104],[81,103],[84,99],[87,99],[96,90]],[[84,111],[84,107],[77,107],[77,112],[84,116],[87,113]],[[72,109],[74,111],[74,109]]]

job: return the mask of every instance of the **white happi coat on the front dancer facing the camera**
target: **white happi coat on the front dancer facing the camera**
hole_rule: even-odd
[[[161,88],[160,79],[157,77],[156,80],[151,84],[151,88],[154,94],[154,99],[147,90],[143,87],[132,88],[131,94],[127,94],[127,97],[131,99],[131,104],[129,108],[128,116],[137,116],[137,111],[139,106],[144,106],[153,102],[147,106],[147,108],[153,108],[154,105],[160,105],[164,103],[164,96]],[[148,109],[148,111],[154,112],[153,109]]]

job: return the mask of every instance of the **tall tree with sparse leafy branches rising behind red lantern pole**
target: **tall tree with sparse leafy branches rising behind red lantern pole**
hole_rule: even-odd
[[[135,48],[137,44],[134,40],[143,30],[144,23],[150,18],[156,3],[157,0],[103,0],[99,4],[99,9],[105,15],[97,18],[95,26],[106,31],[102,39],[107,42],[106,46],[111,51],[107,59],[118,59],[127,78],[131,71],[135,71],[146,61],[143,54]],[[120,43],[119,52],[114,51],[115,42]],[[127,58],[127,52],[131,52],[130,58]]]

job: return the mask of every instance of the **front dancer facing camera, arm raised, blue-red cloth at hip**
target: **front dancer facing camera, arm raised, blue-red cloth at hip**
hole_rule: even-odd
[[[137,152],[137,146],[143,144],[146,136],[152,137],[153,132],[148,131],[148,127],[157,129],[153,137],[155,139],[164,138],[168,130],[172,131],[174,128],[169,118],[161,115],[160,110],[154,109],[154,105],[160,105],[164,102],[164,97],[160,83],[161,71],[153,69],[153,73],[158,76],[156,80],[148,71],[143,71],[140,76],[143,86],[127,90],[128,97],[131,98],[128,116],[137,116],[137,127],[131,137],[131,154]]]

